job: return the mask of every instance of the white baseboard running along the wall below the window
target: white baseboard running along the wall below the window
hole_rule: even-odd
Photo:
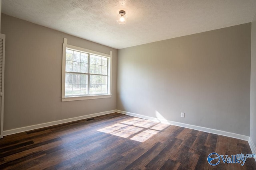
[[[31,131],[31,130],[39,129],[39,128],[43,128],[43,127],[59,125],[59,124],[62,124],[62,123],[68,123],[68,122],[77,121],[77,120],[81,120],[81,119],[87,119],[87,118],[90,118],[90,117],[106,115],[106,114],[114,113],[114,112],[116,112],[116,110],[104,111],[104,112],[100,112],[100,113],[93,113],[93,114],[90,114],[90,115],[73,117],[73,118],[69,118],[69,119],[63,119],[63,120],[52,121],[52,122],[47,122],[47,123],[41,123],[41,124],[38,124],[38,125],[31,125],[31,126],[20,127],[20,128],[16,128],[16,129],[10,129],[10,130],[4,131],[4,136],[12,135],[14,133]]]

